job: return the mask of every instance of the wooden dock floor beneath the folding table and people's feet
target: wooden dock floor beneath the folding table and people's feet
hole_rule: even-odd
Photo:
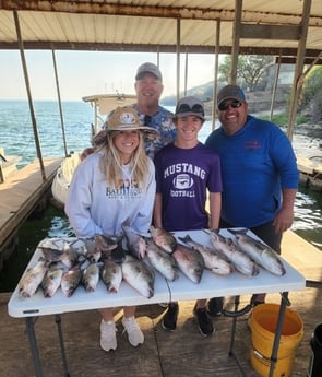
[[[311,354],[310,339],[313,329],[322,322],[322,252],[288,231],[283,239],[283,256],[302,273],[308,282],[303,291],[290,292],[290,308],[303,320],[305,334],[299,344],[291,377],[307,376]],[[310,285],[310,284],[308,284]],[[7,304],[10,293],[0,295],[0,368],[7,377],[35,375],[29,343],[25,333],[25,320],[11,318]],[[279,304],[279,294],[270,294],[267,303]],[[250,296],[241,296],[240,307]],[[178,327],[167,332],[160,326],[165,308],[159,305],[139,306],[138,321],[145,342],[133,349],[122,333],[121,311],[116,311],[119,331],[118,349],[106,353],[99,347],[99,314],[96,310],[61,315],[67,362],[70,376],[85,377],[227,377],[241,376],[232,357],[228,355],[231,318],[216,317],[216,328],[210,338],[203,338],[192,316],[194,302],[180,302]],[[226,297],[225,308],[232,308],[232,297]],[[251,333],[249,315],[237,320],[235,352],[247,377],[258,377],[250,363]],[[35,323],[44,376],[63,375],[55,316],[39,317]]]

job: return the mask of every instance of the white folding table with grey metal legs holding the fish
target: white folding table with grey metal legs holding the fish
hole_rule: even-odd
[[[189,234],[193,240],[200,244],[203,244],[205,246],[211,245],[210,236],[203,231],[176,232],[175,236],[184,237],[187,234]],[[234,239],[234,236],[228,233],[227,229],[220,229],[220,234],[224,236],[229,236]],[[257,238],[253,234],[249,234]],[[40,256],[40,249],[37,248],[27,266],[27,269],[36,263]],[[275,276],[272,273],[265,271],[263,268],[260,268],[260,273],[257,276],[246,276],[237,271],[232,272],[229,275],[223,276],[216,275],[208,270],[204,270],[201,282],[199,284],[194,284],[182,273],[180,273],[178,280],[168,282],[158,272],[156,272],[154,296],[151,298],[143,297],[126,282],[121,283],[118,293],[108,293],[102,280],[99,280],[95,292],[87,293],[82,286],[79,286],[71,297],[65,297],[61,290],[59,290],[51,298],[45,298],[41,290],[39,288],[34,296],[29,298],[21,298],[19,296],[19,287],[16,287],[9,301],[8,311],[11,317],[24,317],[26,320],[26,330],[29,339],[36,377],[41,377],[43,370],[38,354],[34,321],[38,316],[55,315],[60,340],[64,376],[69,376],[63,345],[63,335],[60,326],[60,315],[63,313],[93,310],[104,307],[122,307],[124,305],[138,306],[165,302],[194,301],[199,298],[222,296],[236,296],[236,303],[238,304],[238,298],[240,295],[249,295],[263,292],[281,293],[281,308],[271,356],[270,377],[272,377],[276,364],[276,356],[278,352],[285,309],[286,306],[289,305],[288,292],[300,291],[306,287],[306,279],[283,258],[282,261],[286,269],[286,274],[283,276]],[[238,305],[235,306],[235,309],[237,315]],[[243,375],[243,370],[234,353],[236,316],[234,316],[234,313],[231,316],[234,317],[234,319],[229,355],[232,355],[236,358],[238,366]]]

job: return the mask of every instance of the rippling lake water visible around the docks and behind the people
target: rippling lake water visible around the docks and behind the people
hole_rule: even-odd
[[[170,108],[172,110],[172,108]],[[90,145],[93,108],[88,103],[62,103],[63,121],[68,151],[82,151]],[[44,157],[63,156],[64,146],[60,125],[58,104],[55,102],[35,102],[38,134]],[[200,131],[204,141],[211,132],[211,122],[206,121]],[[308,145],[319,148],[321,140],[308,136],[295,134],[295,150],[299,154],[308,151]],[[5,154],[22,157],[20,167],[36,158],[33,126],[27,102],[0,101],[0,146]],[[322,250],[322,195],[300,188],[295,203],[295,222],[291,229]],[[37,244],[45,237],[71,236],[72,229],[63,212],[49,207],[44,217],[28,220],[20,229],[17,255],[12,256],[0,272],[0,292],[12,291],[24,271]],[[13,273],[12,271],[17,271]]]

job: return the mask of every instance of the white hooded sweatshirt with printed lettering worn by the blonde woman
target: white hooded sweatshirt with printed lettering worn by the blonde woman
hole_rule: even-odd
[[[75,169],[64,207],[77,237],[95,234],[117,235],[129,220],[134,232],[145,234],[152,221],[155,198],[155,169],[150,160],[146,187],[139,189],[130,179],[130,169],[123,165],[120,188],[108,187],[99,168],[102,152],[87,156]]]

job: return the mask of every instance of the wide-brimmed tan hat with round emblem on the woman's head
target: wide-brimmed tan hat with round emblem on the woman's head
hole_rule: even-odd
[[[138,113],[133,107],[117,107],[107,119],[106,131],[110,132],[130,130],[148,132],[155,138],[159,137],[159,132],[155,128],[141,126]]]

